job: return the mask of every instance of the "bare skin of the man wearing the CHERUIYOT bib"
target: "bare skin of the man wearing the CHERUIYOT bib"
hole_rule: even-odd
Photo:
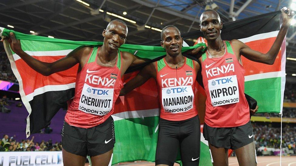
[[[106,67],[113,67],[116,64],[116,57],[118,48],[125,43],[127,36],[127,27],[121,21],[111,21],[107,28],[103,31],[104,43],[100,47],[98,52],[97,64]],[[15,39],[15,35],[11,32],[9,38],[4,38],[1,41],[8,40],[11,49],[18,54],[32,69],[41,73],[44,76],[49,76],[53,73],[67,70],[77,63],[79,68],[77,72],[80,72],[83,66],[86,64],[88,56],[92,50],[91,47],[79,47],[76,50],[69,53],[66,57],[57,60],[52,63],[46,63],[39,61],[22,50],[21,43]],[[126,72],[127,68],[133,65],[141,64],[147,61],[134,56],[128,52],[122,52],[122,68],[121,76]],[[77,165],[82,166],[85,163],[86,156],[79,156],[69,153],[63,149],[63,163],[64,165]],[[92,165],[108,165],[113,149],[97,156],[92,156]]]

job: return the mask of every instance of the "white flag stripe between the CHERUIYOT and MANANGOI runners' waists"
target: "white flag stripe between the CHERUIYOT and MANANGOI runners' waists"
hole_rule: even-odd
[[[138,111],[119,112],[112,115],[114,121],[129,119],[129,118],[145,118],[151,116],[159,116],[159,109],[144,109]]]

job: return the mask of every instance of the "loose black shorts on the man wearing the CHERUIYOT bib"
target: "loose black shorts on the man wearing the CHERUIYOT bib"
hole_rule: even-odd
[[[64,122],[62,147],[72,154],[85,157],[101,155],[113,149],[114,144],[114,123],[111,116],[102,124],[89,129]]]

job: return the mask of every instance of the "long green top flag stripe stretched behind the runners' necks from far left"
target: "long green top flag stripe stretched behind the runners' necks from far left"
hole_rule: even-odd
[[[81,45],[89,46],[101,46],[103,42],[95,41],[69,41],[64,39],[49,38],[44,36],[36,36],[30,34],[23,34],[13,30],[4,29],[3,36],[9,36],[9,32],[15,34],[15,38],[21,40],[22,48],[24,51],[54,51],[54,50],[74,50],[75,48]],[[25,44],[26,43],[26,44]],[[24,47],[23,47],[24,46]],[[46,46],[46,47],[44,47]],[[182,47],[182,52],[185,52],[190,49],[194,49],[200,46],[205,48],[202,51],[206,50],[206,44],[199,43],[191,47]],[[141,58],[155,59],[157,57],[166,55],[165,49],[160,46],[144,46],[144,45],[134,45],[134,44],[123,44],[119,48],[120,51],[130,52],[133,55],[136,55]],[[14,54],[14,53],[13,53]]]

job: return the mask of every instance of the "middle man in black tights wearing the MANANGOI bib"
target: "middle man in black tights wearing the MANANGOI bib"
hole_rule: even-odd
[[[163,28],[160,44],[167,55],[144,67],[124,85],[120,96],[154,78],[161,103],[155,164],[172,166],[180,147],[182,164],[196,166],[200,160],[200,120],[194,94],[200,65],[182,55],[183,39],[175,26]]]

